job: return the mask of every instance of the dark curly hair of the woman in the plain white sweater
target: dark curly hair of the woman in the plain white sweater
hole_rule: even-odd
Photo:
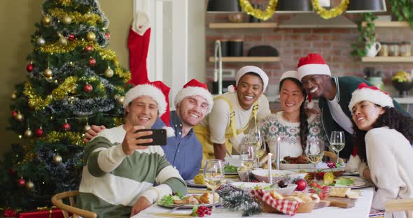
[[[377,107],[381,107],[376,104]],[[384,107],[384,113],[377,117],[376,122],[372,125],[372,128],[379,128],[382,126],[388,126],[390,129],[395,129],[396,131],[402,133],[409,143],[413,143],[413,118],[405,115],[398,109],[390,108],[388,106]],[[351,119],[354,129],[354,145],[358,145],[358,156],[361,159],[366,159],[365,154],[365,134],[367,131],[358,129],[356,123]]]

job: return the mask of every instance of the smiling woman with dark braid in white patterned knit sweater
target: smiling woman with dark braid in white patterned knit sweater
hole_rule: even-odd
[[[269,152],[276,154],[276,141],[281,140],[280,157],[304,155],[307,140],[318,138],[328,145],[320,115],[304,112],[307,92],[297,80],[297,71],[281,75],[280,103],[283,111],[266,117],[260,130],[268,143]],[[288,147],[287,147],[288,146]]]

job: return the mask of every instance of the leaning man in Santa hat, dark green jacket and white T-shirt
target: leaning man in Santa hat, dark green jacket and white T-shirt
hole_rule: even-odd
[[[357,151],[353,153],[353,124],[349,103],[351,94],[358,85],[365,82],[371,86],[370,82],[352,76],[332,78],[330,68],[320,54],[307,54],[307,57],[302,57],[298,62],[297,71],[307,93],[319,98],[318,106],[321,109],[325,136],[330,140],[332,131],[344,131],[346,145],[339,152],[339,157],[348,159],[351,154],[356,157]],[[393,103],[395,108],[403,110],[394,100]]]

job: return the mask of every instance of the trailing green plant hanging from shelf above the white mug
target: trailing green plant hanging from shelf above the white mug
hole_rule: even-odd
[[[363,19],[358,22],[358,43],[351,44],[351,56],[358,56],[364,57],[366,53],[366,49],[370,49],[372,44],[376,41],[376,33],[374,29],[376,25],[374,24],[374,20],[377,19],[376,15],[372,13],[363,13]],[[365,26],[363,26],[363,22],[365,22]]]

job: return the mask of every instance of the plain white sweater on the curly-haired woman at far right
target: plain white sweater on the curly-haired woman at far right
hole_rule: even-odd
[[[413,147],[402,133],[388,126],[365,135],[367,163],[377,187],[372,208],[384,210],[386,201],[413,198]]]

